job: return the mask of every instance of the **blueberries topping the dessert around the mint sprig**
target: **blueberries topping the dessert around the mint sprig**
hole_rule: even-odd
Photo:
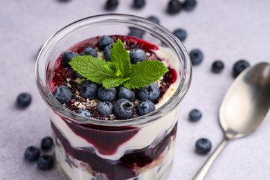
[[[105,35],[100,37],[96,46],[99,51],[103,51],[105,60],[111,60],[111,47],[114,44],[114,39]],[[78,56],[78,53],[66,51],[62,53],[62,65],[69,67],[69,62],[73,57]],[[80,55],[98,56],[95,48],[86,47]],[[136,64],[146,60],[146,54],[143,49],[135,47],[129,53],[130,63]],[[80,78],[80,74],[76,74]],[[83,78],[83,77],[82,77]],[[97,111],[100,116],[111,116],[114,114],[119,119],[129,119],[138,116],[143,116],[155,110],[154,102],[157,102],[160,95],[159,87],[156,83],[147,85],[140,89],[131,90],[125,87],[105,87],[91,82],[90,80],[83,80],[80,87],[68,87],[67,85],[60,85],[55,89],[53,95],[61,103],[71,102],[73,92],[78,90],[81,98],[88,100],[96,100],[96,107],[91,109],[79,108],[75,110],[77,114],[85,117],[99,118],[95,114]]]

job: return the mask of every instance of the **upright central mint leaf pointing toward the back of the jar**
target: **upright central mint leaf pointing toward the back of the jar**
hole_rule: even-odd
[[[129,77],[131,72],[129,53],[120,39],[111,48],[111,62],[114,62],[120,70],[120,76]]]

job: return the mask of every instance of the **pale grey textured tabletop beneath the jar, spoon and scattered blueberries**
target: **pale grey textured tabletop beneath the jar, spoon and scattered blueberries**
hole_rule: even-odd
[[[51,135],[46,105],[35,87],[35,57],[42,44],[60,28],[75,20],[107,13],[105,1],[56,0],[0,1],[0,179],[64,179],[56,168],[49,172],[24,161],[28,145],[39,146]],[[218,123],[219,104],[233,82],[232,66],[241,58],[251,64],[270,62],[270,1],[201,0],[192,12],[170,16],[168,1],[147,1],[143,10],[132,10],[132,1],[120,1],[115,12],[147,17],[156,15],[169,30],[185,28],[183,43],[188,51],[200,48],[204,62],[193,69],[193,79],[183,100],[175,159],[169,180],[191,179],[208,155],[195,154],[195,141],[209,138],[213,148],[222,140]],[[210,66],[221,59],[225,69],[213,74]],[[32,94],[27,109],[15,107],[22,91]],[[198,123],[188,121],[190,109],[203,111]],[[231,141],[219,156],[206,179],[269,179],[270,122],[246,138]]]

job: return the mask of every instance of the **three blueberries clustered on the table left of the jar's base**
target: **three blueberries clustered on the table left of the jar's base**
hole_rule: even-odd
[[[53,147],[53,138],[42,138],[40,147],[41,150],[43,150],[44,152],[48,152],[49,150],[51,150],[51,148]],[[24,152],[24,159],[30,162],[37,161],[37,167],[40,170],[51,170],[54,164],[53,156],[48,154],[43,154],[41,156],[41,151],[39,150],[39,148],[32,145],[26,148],[26,151]]]

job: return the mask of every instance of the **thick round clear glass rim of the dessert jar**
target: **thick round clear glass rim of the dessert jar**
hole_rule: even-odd
[[[87,25],[98,24],[102,21],[106,20],[106,22],[111,21],[116,23],[116,21],[120,21],[124,24],[130,24],[129,26],[140,26],[141,28],[147,28],[154,30],[154,33],[162,35],[167,41],[170,41],[170,45],[174,48],[174,53],[177,55],[177,59],[181,62],[181,69],[179,72],[180,84],[177,87],[177,91],[174,92],[173,96],[165,102],[164,105],[152,111],[150,114],[146,114],[144,116],[138,116],[136,118],[130,118],[127,120],[99,120],[96,118],[87,118],[76,114],[75,112],[71,111],[70,109],[64,107],[60,102],[56,100],[53,96],[53,93],[50,91],[50,87],[47,81],[47,68],[48,66],[41,67],[40,62],[46,61],[44,56],[50,50],[53,49],[53,45],[55,45],[55,39],[59,38],[60,36],[64,37],[64,35],[68,35],[71,33],[72,30],[78,28],[78,25],[82,25],[86,22]],[[132,21],[131,21],[132,20]],[[136,22],[136,23],[135,23]],[[85,24],[84,24],[85,26]],[[79,26],[82,27],[82,26]],[[168,43],[168,42],[166,42]],[[182,58],[180,58],[182,57]],[[41,72],[39,69],[45,69],[45,74],[40,74]],[[35,66],[35,81],[37,84],[37,89],[39,90],[40,95],[42,96],[43,100],[46,102],[48,107],[53,109],[55,113],[62,116],[62,118],[69,119],[73,121],[73,123],[81,124],[81,125],[100,125],[100,126],[110,126],[110,127],[123,127],[123,126],[138,126],[138,125],[145,125],[147,123],[152,123],[154,120],[160,118],[164,114],[168,114],[172,109],[177,108],[177,105],[181,102],[183,97],[186,95],[190,83],[191,83],[191,76],[192,76],[192,65],[190,62],[190,57],[186,48],[180,42],[180,40],[175,37],[170,30],[167,28],[156,24],[149,19],[145,19],[143,17],[138,17],[134,15],[125,15],[125,14],[106,14],[106,15],[96,15],[91,17],[86,17],[80,19],[78,21],[74,21],[73,23],[64,26],[64,28],[60,29],[52,35],[42,46],[42,49],[39,51],[39,55],[37,56],[37,62]],[[43,77],[43,78],[42,78]],[[44,84],[42,82],[44,81]],[[45,85],[45,87],[44,87]]]

